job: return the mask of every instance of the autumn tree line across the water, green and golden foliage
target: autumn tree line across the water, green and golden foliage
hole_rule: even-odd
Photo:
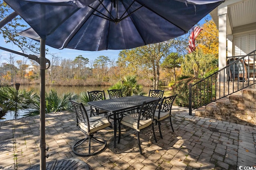
[[[11,12],[12,9],[0,0],[0,20]],[[196,39],[196,51],[190,54],[188,54],[190,32],[165,42],[122,50],[118,59],[99,56],[90,61],[82,55],[76,56],[75,59],[62,59],[61,56],[51,54],[46,49],[46,53],[51,56],[51,66],[46,70],[46,85],[111,86],[116,82],[122,82],[125,76],[135,76],[138,84],[152,86],[152,89],[169,86],[182,87],[181,90],[176,89],[176,93],[186,91],[190,80],[185,79],[200,80],[209,75],[209,72],[218,70],[218,29],[208,18],[204,24],[198,26],[203,31]],[[39,54],[38,42],[18,36],[17,33],[25,28],[26,23],[17,17],[4,25],[0,29],[0,34],[6,43],[16,45],[23,53]],[[0,56],[0,86],[8,86],[16,82],[39,84],[38,63],[29,61],[25,57],[22,60],[15,58],[16,56],[10,55],[8,59],[5,58],[7,62],[4,63],[3,57]],[[34,70],[27,70],[30,65],[34,66]],[[187,92],[184,94],[187,96]],[[179,96],[176,100],[178,99]]]

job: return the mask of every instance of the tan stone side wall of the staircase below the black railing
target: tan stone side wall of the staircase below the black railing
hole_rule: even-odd
[[[195,115],[256,127],[256,89],[230,94],[196,109]]]

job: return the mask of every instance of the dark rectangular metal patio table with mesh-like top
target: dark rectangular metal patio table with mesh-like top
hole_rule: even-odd
[[[116,148],[116,131],[117,131],[117,121],[120,119],[119,114],[132,111],[142,105],[143,102],[150,102],[158,98],[149,96],[126,96],[121,98],[106,99],[88,102],[90,106],[102,109],[104,111],[110,112],[114,119],[114,148]]]

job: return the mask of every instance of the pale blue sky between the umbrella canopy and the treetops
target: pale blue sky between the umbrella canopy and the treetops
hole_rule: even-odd
[[[208,15],[209,17],[210,15]],[[205,19],[203,18],[201,21],[199,21],[199,25],[202,25],[202,23],[205,22]],[[11,43],[5,43],[4,38],[2,35],[0,35],[0,46],[8,49],[12,49],[15,51],[18,51],[18,47],[15,45],[12,45]],[[88,58],[90,61],[93,61],[97,57],[104,55],[109,57],[110,60],[116,61],[118,58],[118,54],[121,50],[104,50],[104,51],[81,51],[81,50],[74,50],[74,49],[54,49],[52,47],[49,47],[46,45],[46,48],[49,49],[49,52],[54,54],[55,56],[58,56],[62,59],[74,59],[78,55],[82,55],[84,58]],[[10,53],[7,51],[0,50],[0,64],[3,62],[6,62],[5,59],[8,59],[10,56]],[[15,57],[14,60],[22,60],[23,56],[13,54]],[[51,59],[50,55],[46,55],[47,59]]]

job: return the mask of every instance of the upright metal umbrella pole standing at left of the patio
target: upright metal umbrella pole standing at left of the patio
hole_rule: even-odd
[[[40,169],[46,169],[45,143],[45,39],[40,38]]]

